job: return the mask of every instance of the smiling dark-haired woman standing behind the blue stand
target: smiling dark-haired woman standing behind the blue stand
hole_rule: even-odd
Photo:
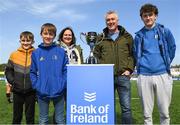
[[[58,44],[64,48],[69,64],[82,64],[83,53],[80,45],[76,45],[76,38],[72,28],[64,28],[58,36]]]

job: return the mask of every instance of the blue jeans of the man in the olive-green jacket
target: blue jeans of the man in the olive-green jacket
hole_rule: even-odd
[[[121,106],[122,124],[132,124],[130,78],[128,76],[118,76],[115,82]]]

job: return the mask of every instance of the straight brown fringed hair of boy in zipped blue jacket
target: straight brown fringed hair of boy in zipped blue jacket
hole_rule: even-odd
[[[40,32],[41,35],[44,30],[47,30],[48,32],[53,33],[54,37],[56,36],[57,29],[56,29],[56,26],[52,23],[45,23],[41,26],[41,32]]]

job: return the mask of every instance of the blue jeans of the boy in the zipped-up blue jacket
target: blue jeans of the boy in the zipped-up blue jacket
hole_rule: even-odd
[[[55,108],[55,122],[57,124],[65,124],[64,118],[64,96],[56,99],[51,99]],[[48,124],[49,118],[49,103],[50,100],[43,100],[38,98],[39,104],[39,124]]]

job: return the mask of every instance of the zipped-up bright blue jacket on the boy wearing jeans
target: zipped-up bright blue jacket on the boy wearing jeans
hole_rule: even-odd
[[[30,77],[37,96],[51,99],[63,94],[66,87],[68,58],[64,49],[54,43],[40,44],[32,53]]]

